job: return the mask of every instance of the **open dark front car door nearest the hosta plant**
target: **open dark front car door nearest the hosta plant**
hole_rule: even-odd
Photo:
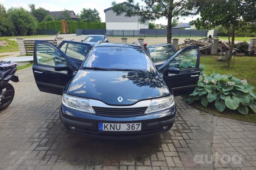
[[[185,47],[158,68],[174,96],[188,95],[196,88],[200,75],[199,57],[198,46]],[[169,73],[168,68],[178,68],[180,73]]]

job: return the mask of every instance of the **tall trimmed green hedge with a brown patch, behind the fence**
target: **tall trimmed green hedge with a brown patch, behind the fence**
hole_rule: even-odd
[[[38,29],[56,29],[57,33],[60,31],[61,34],[75,34],[76,29],[106,29],[106,24],[105,22],[42,21],[38,24]]]

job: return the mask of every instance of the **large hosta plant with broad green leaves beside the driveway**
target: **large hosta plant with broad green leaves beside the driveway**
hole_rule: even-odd
[[[246,79],[239,80],[231,74],[213,73],[208,76],[201,71],[196,89],[185,97],[185,101],[191,104],[200,100],[205,107],[214,102],[220,112],[229,108],[241,114],[248,114],[248,108],[251,108],[256,113],[256,94],[253,89]]]

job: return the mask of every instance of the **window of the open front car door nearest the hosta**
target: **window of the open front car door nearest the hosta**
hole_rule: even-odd
[[[197,61],[197,49],[189,49],[179,53],[175,58],[173,58],[169,67],[179,68],[179,69],[188,69],[195,68]]]

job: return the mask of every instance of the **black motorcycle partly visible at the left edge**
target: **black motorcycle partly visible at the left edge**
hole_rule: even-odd
[[[0,111],[6,109],[14,99],[14,87],[8,81],[18,82],[17,64],[14,62],[0,61]]]

